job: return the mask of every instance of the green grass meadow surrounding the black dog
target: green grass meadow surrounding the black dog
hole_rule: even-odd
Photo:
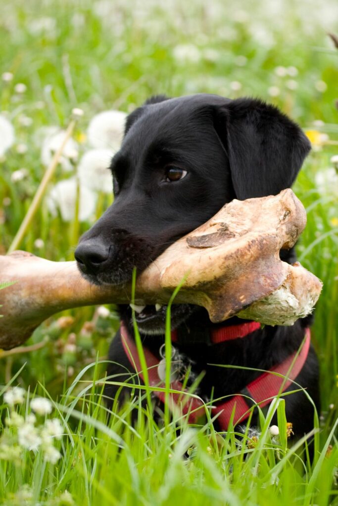
[[[175,0],[163,6],[150,0],[133,5],[15,0],[2,5],[0,36],[6,45],[0,73],[12,72],[13,80],[2,82],[0,107],[14,124],[16,142],[0,162],[0,253],[9,248],[43,177],[42,129],[65,127],[73,107],[85,111],[73,136],[80,154],[88,149],[85,133],[95,113],[130,111],[157,93],[259,96],[303,128],[327,134],[328,142],[317,143],[294,188],[308,212],[298,257],[324,282],[312,330],[322,396],[314,461],[298,444],[287,447],[282,398],[261,413],[258,439],[248,431],[236,439],[230,428],[220,441],[210,418],[196,427],[175,420],[179,431],[169,421],[158,427],[149,403],[146,409],[138,405],[135,428],[130,424],[131,404],[114,408],[108,420],[102,383],[118,316],[114,307],[108,314],[81,308],[37,329],[27,343],[28,352],[0,353],[0,502],[338,504],[337,188],[318,183],[318,174],[338,150],[338,52],[325,34],[334,30],[336,6],[278,6],[250,0],[236,8],[220,0],[210,6]],[[24,93],[15,91],[17,83],[24,83]],[[23,121],[23,116],[31,121]],[[21,168],[25,177],[13,180],[13,171]],[[68,177],[57,167],[50,187]],[[20,247],[51,260],[71,260],[79,236],[111,199],[98,195],[95,213],[81,223],[53,217],[44,199]],[[46,462],[41,448],[33,452],[22,447],[19,428],[6,425],[12,408],[2,394],[10,384],[27,392],[25,402],[15,408],[22,415],[31,411],[32,397],[53,399],[53,412],[46,417],[60,419],[64,430],[60,440],[53,440],[61,453],[56,463]],[[137,378],[130,388],[140,388]],[[144,397],[150,393],[149,387],[142,389]],[[274,409],[278,441],[268,430]],[[36,431],[43,430],[44,423],[44,416],[36,415]],[[18,448],[17,454],[4,452],[5,444]]]

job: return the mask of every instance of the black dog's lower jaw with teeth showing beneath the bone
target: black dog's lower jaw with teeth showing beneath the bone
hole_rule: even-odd
[[[170,328],[175,330],[189,316],[198,309],[192,304],[176,304],[171,307]],[[155,306],[145,306],[140,313],[135,313],[137,328],[140,333],[146,335],[161,335],[166,331],[167,306],[162,306],[158,311]],[[131,319],[132,324],[132,319]]]

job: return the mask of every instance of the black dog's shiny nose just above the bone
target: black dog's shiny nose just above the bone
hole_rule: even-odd
[[[97,274],[109,257],[109,246],[99,240],[87,240],[79,244],[75,250],[75,259],[82,270]]]

